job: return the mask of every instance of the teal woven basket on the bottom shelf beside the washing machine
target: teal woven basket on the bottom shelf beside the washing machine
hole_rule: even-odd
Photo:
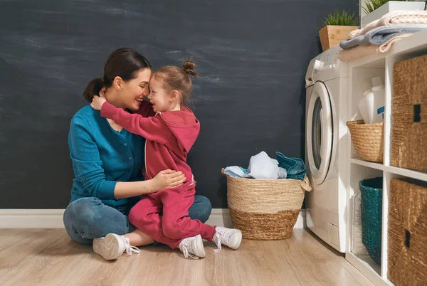
[[[382,176],[359,181],[362,198],[362,243],[369,257],[381,264]]]

